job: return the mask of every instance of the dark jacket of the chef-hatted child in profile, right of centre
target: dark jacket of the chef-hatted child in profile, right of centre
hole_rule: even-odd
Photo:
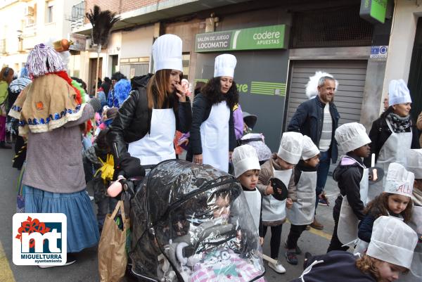
[[[353,158],[356,162],[359,162],[359,164],[363,164],[362,159],[356,155],[347,153],[347,156]],[[356,217],[359,220],[362,220],[364,218],[364,203],[362,203],[362,200],[360,199],[360,181],[364,169],[358,163],[354,163],[353,165],[341,165],[341,162],[342,160],[340,160],[340,163],[334,169],[333,179],[338,183],[340,194],[347,196],[347,200]],[[340,214],[341,203],[343,203],[343,197],[339,195],[335,200],[333,214]]]

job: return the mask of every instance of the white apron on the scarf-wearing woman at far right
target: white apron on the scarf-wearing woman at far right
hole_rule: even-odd
[[[411,148],[411,139],[412,133],[411,132],[402,132],[402,133],[395,133],[392,131],[391,124],[388,120],[388,128],[391,130],[391,135],[385,141],[383,147],[378,154],[378,159],[376,160],[376,167],[381,167],[384,169],[384,179],[383,181],[379,181],[371,185],[368,193],[368,202],[373,200],[376,196],[383,193],[384,189],[383,186],[385,185],[385,179],[387,179],[387,172],[388,166],[392,162],[398,162],[400,165],[406,167],[406,153],[407,149]]]

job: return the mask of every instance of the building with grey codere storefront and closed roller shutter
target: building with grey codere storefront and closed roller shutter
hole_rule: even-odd
[[[193,85],[212,77],[215,56],[233,53],[238,58],[235,80],[242,108],[258,116],[255,130],[266,136],[272,150],[295,109],[307,99],[305,84],[316,70],[330,72],[340,82],[335,94],[340,124],[361,122],[369,128],[383,110],[388,82],[407,80],[411,63],[418,60],[412,54],[420,50],[415,41],[418,1],[89,0],[84,4],[85,12],[100,4],[122,18],[100,54],[101,77],[116,70],[129,78],[151,72],[151,45],[166,33],[183,40],[184,77]],[[378,12],[381,7],[378,18],[363,13],[372,8],[366,5],[374,4]],[[89,37],[91,26],[85,20],[73,32]],[[94,84],[96,52],[80,56],[85,58],[81,77]],[[421,75],[417,71],[421,68],[414,69],[417,74],[412,77]],[[421,88],[420,81],[414,79],[415,89]],[[417,100],[420,94],[414,93]]]

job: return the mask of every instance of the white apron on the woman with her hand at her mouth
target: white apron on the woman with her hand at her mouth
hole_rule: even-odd
[[[173,145],[176,117],[172,108],[153,109],[150,131],[142,139],[129,143],[129,154],[139,158],[141,165],[157,165],[176,158]]]

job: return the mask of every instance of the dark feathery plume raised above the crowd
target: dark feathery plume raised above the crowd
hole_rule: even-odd
[[[120,17],[116,17],[116,13],[111,13],[108,10],[101,11],[101,8],[98,6],[94,6],[94,11],[91,10],[86,15],[92,25],[93,43],[99,46],[106,45],[110,36],[111,27],[120,20]]]

